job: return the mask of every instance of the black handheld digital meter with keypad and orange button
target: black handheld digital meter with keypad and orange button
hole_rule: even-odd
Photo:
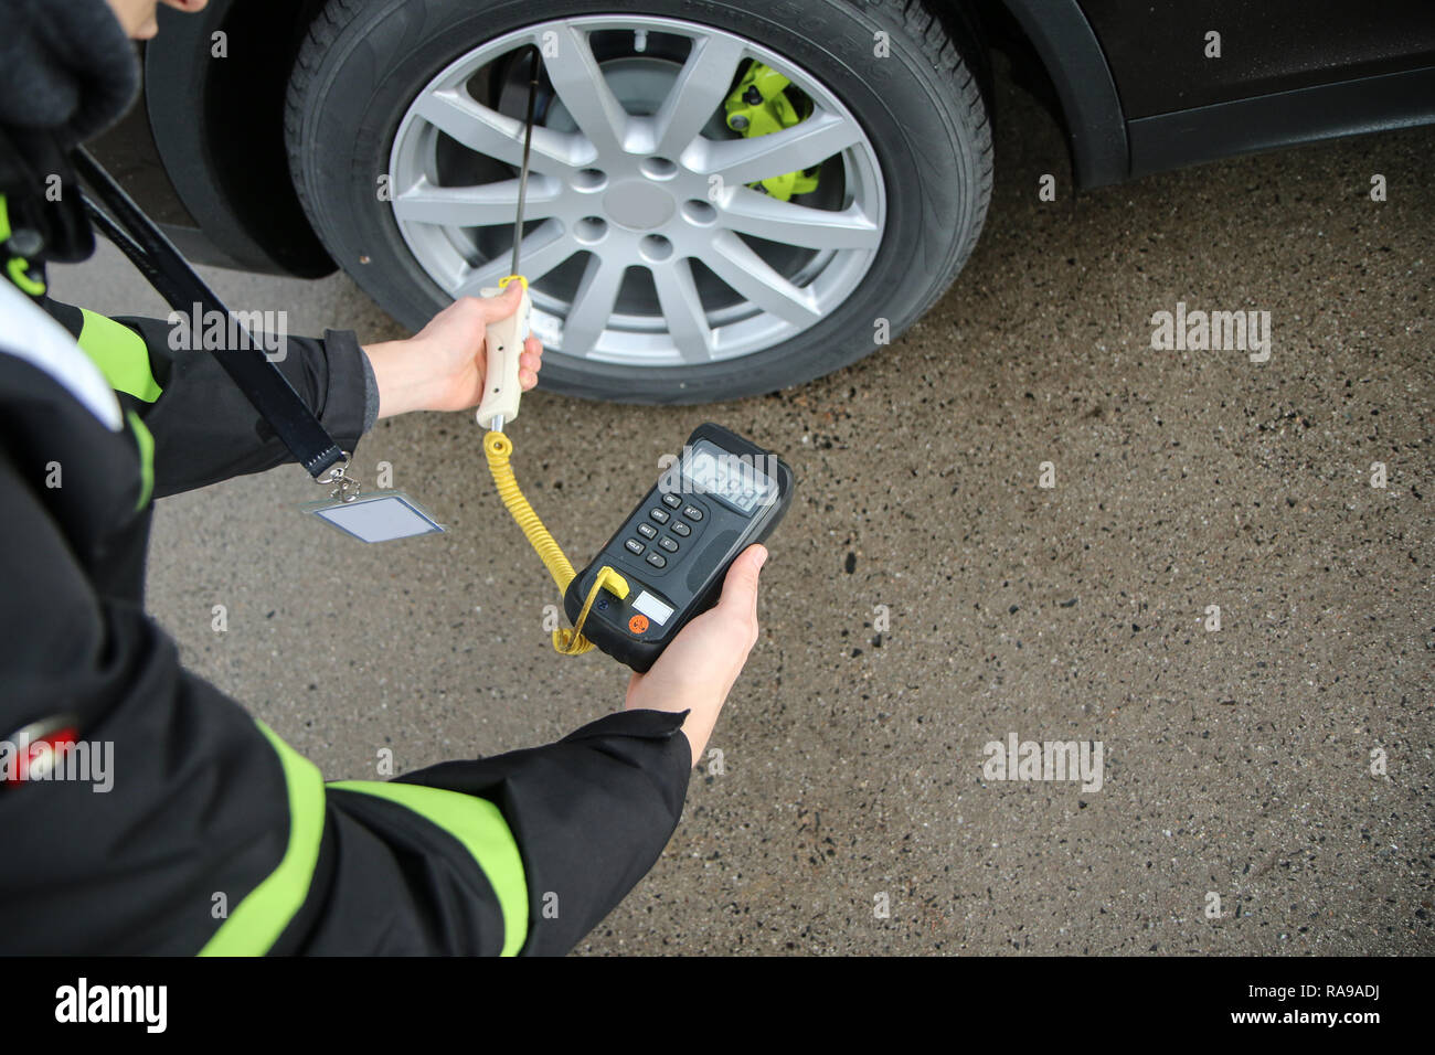
[[[699,425],[682,456],[564,591],[577,620],[603,567],[626,597],[600,590],[584,636],[639,673],[693,617],[718,603],[733,560],[772,534],[792,501],[794,477],[776,455],[720,425]]]

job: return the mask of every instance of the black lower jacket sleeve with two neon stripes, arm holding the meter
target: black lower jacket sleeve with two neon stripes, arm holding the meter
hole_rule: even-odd
[[[0,784],[24,861],[0,868],[0,952],[561,953],[677,824],[683,715],[651,711],[326,785],[138,604],[96,594],[3,451],[0,508],[0,738],[65,713],[90,766]]]

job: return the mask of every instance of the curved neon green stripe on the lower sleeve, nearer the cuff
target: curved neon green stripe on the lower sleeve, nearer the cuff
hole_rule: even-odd
[[[528,939],[528,883],[514,833],[486,798],[445,788],[385,781],[334,781],[330,788],[377,795],[408,807],[462,843],[498,896],[504,914],[504,956],[517,956]]]

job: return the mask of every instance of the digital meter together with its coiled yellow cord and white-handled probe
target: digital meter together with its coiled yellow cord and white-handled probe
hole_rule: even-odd
[[[488,370],[476,418],[488,429],[484,454],[498,495],[563,591],[564,610],[573,620],[571,629],[552,632],[554,649],[577,656],[597,646],[643,673],[679,630],[718,603],[738,554],[772,534],[792,501],[794,477],[781,458],[756,444],[720,425],[699,425],[682,456],[581,573],[574,573],[524,498],[509,465],[514,444],[504,425],[518,416],[522,396],[518,356],[528,336],[530,300],[528,280],[518,264],[537,93],[538,49],[534,47],[512,268],[498,289],[482,290],[485,297],[495,297],[508,283],[518,281],[524,294],[512,316],[488,326]]]

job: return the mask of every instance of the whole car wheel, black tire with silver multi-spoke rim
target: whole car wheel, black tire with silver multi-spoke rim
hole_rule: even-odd
[[[519,270],[545,388],[696,403],[910,326],[982,230],[992,139],[951,27],[838,0],[330,0],[286,135],[334,260],[418,329]]]

